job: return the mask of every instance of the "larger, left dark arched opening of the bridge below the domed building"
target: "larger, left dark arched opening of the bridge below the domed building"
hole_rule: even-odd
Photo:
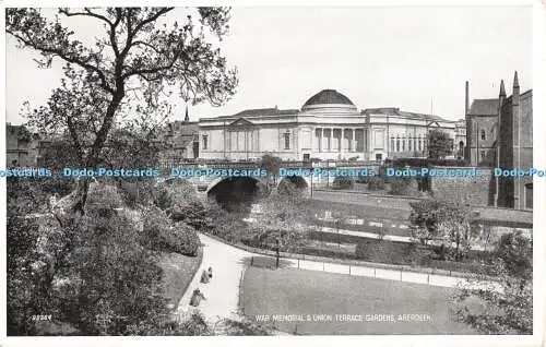
[[[230,177],[214,184],[206,196],[228,212],[248,214],[252,203],[266,194],[266,184],[256,178]]]

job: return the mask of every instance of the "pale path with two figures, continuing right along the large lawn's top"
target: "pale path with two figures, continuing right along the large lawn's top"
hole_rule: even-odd
[[[247,252],[223,243],[205,235],[199,235],[203,243],[203,261],[200,270],[195,273],[194,278],[190,283],[188,290],[182,296],[177,312],[181,316],[193,310],[199,310],[203,313],[206,321],[215,324],[223,318],[239,320],[237,309],[239,300],[239,283],[241,274],[245,271],[245,260],[251,256],[266,256]],[[213,268],[213,278],[207,284],[202,284],[201,273]],[[397,270],[373,268],[366,266],[353,266],[345,264],[324,263],[316,261],[298,261],[294,259],[283,259],[283,267],[299,268],[309,271],[323,271],[337,274],[347,274],[351,276],[365,276],[381,279],[401,280],[407,283],[417,283],[440,287],[458,287],[461,283],[468,282],[461,277],[451,277],[442,275],[432,275],[426,273],[415,273]],[[484,288],[492,286],[498,288],[494,283],[482,285],[472,285],[472,287]],[[191,307],[190,299],[194,289],[199,288],[203,292],[206,300],[201,301],[198,308]]]

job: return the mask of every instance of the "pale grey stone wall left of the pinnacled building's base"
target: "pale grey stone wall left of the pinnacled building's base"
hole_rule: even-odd
[[[472,167],[435,167],[437,169],[472,169]],[[495,178],[492,169],[476,168],[480,177],[431,177],[430,187],[437,198],[464,201],[472,205],[488,206],[494,204]]]

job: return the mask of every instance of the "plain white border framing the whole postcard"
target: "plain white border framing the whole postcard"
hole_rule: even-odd
[[[56,0],[7,0],[0,5],[0,113],[5,115],[5,34],[4,34],[4,7],[60,7],[60,5],[530,5],[533,4],[533,94],[534,94],[534,165],[538,168],[546,168],[546,156],[543,148],[546,147],[546,2],[538,0],[428,0],[428,1],[403,1],[403,0],[316,0],[313,3],[305,0],[216,0],[216,1],[56,1]],[[281,24],[281,23],[280,23]],[[510,25],[510,23],[507,23]],[[507,43],[509,49],[510,43]],[[484,67],[486,68],[486,67]],[[514,67],[514,70],[517,67]],[[5,117],[5,116],[3,116]],[[5,122],[5,119],[4,119]],[[0,127],[0,169],[5,165],[5,127]],[[0,235],[2,247],[0,247],[0,286],[1,286],[1,310],[0,310],[0,344],[5,346],[118,346],[131,344],[132,346],[147,346],[151,344],[163,346],[180,346],[180,344],[191,344],[192,346],[210,346],[212,344],[223,344],[229,346],[282,346],[285,344],[312,345],[312,346],[539,346],[544,345],[544,261],[545,261],[545,236],[546,229],[543,212],[546,211],[544,199],[546,198],[545,179],[535,179],[534,182],[534,334],[532,336],[484,336],[484,335],[392,335],[392,336],[276,336],[276,337],[5,337],[5,180],[0,180]]]

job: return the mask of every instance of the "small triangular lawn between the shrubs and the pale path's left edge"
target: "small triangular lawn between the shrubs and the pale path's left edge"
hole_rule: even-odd
[[[163,270],[164,296],[176,308],[201,264],[202,253],[187,256],[178,253],[162,253],[157,265]]]

